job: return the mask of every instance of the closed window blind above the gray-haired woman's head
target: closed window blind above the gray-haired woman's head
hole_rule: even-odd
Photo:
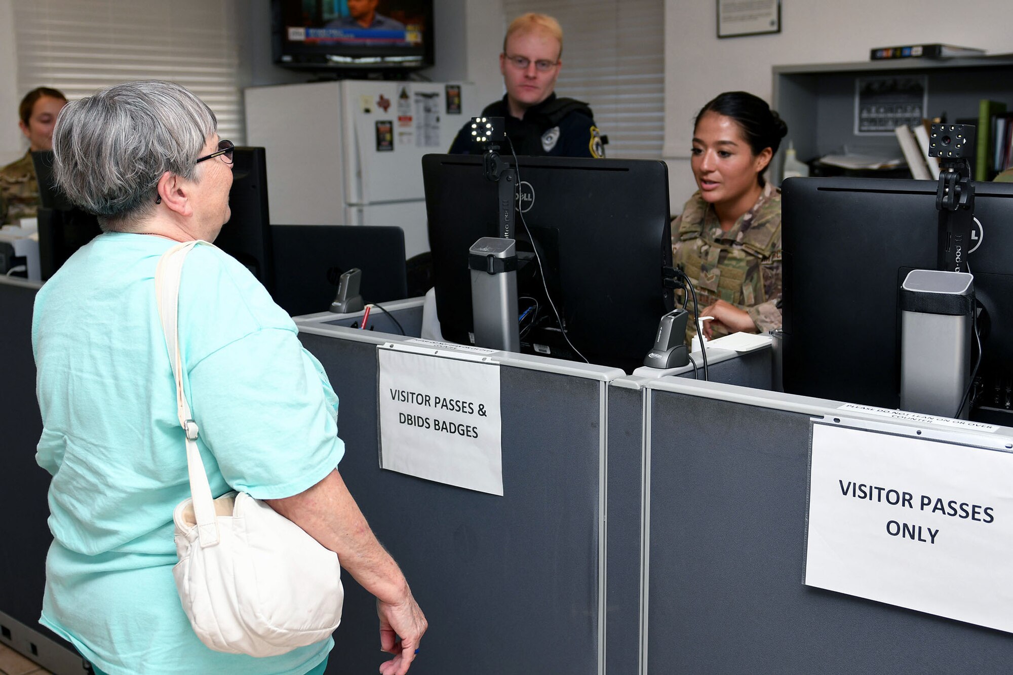
[[[244,143],[236,0],[13,0],[21,92],[51,86],[75,100],[140,79],[178,82]]]

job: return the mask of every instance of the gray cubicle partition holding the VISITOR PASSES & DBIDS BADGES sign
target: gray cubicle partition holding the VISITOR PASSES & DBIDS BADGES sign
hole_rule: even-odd
[[[604,673],[612,596],[603,571],[606,543],[618,538],[606,491],[634,490],[639,475],[634,465],[636,475],[607,486],[606,439],[629,432],[630,459],[641,451],[638,391],[617,403],[629,429],[606,429],[606,384],[622,371],[494,355],[503,474],[496,497],[379,467],[377,346],[399,336],[321,322],[301,322],[300,330],[340,397],[341,473],[430,620],[412,672]],[[636,505],[632,515],[628,526],[638,530]],[[632,547],[636,553],[635,537]],[[627,569],[610,560],[608,579],[637,578],[636,558]],[[383,655],[373,602],[349,582],[344,606],[328,672],[374,672]],[[619,612],[635,618],[631,605]],[[635,661],[626,666],[612,672],[633,672]]]

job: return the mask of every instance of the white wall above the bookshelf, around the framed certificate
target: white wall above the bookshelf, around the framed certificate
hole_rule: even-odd
[[[945,18],[955,12],[964,18]],[[665,14],[664,152],[676,212],[695,190],[689,149],[697,110],[736,89],[769,101],[775,65],[867,61],[874,47],[919,43],[1013,52],[1009,0],[783,0],[780,33],[724,40],[714,0],[665,0]]]

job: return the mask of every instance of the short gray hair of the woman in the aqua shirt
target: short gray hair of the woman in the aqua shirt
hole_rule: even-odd
[[[56,182],[71,203],[121,229],[155,209],[166,171],[191,179],[218,121],[186,88],[125,82],[64,106],[53,132]]]

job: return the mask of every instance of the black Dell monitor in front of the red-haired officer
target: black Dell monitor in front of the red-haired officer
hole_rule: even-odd
[[[503,157],[513,166],[514,158]],[[520,157],[518,204],[542,254],[545,282],[567,336],[592,363],[631,370],[673,307],[661,268],[672,264],[668,167],[663,161]],[[497,186],[482,158],[422,157],[437,313],[444,338],[470,342],[468,249],[496,236]],[[517,219],[519,249],[528,242]],[[521,260],[518,295],[539,301],[540,330],[522,351],[567,353],[534,261]],[[525,302],[520,303],[523,310]],[[527,320],[527,319],[526,319]]]

